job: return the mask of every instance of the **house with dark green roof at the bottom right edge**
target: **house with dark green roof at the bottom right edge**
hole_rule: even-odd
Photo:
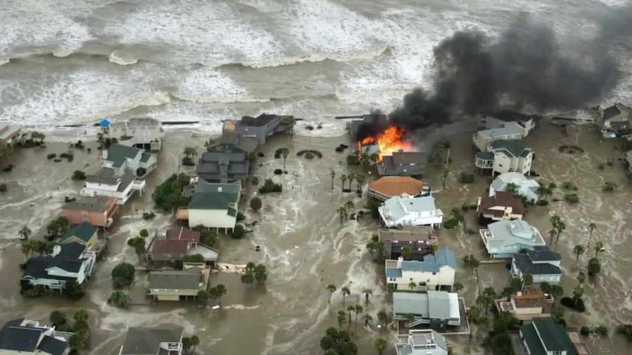
[[[549,317],[520,327],[520,340],[530,355],[578,355],[566,328]]]

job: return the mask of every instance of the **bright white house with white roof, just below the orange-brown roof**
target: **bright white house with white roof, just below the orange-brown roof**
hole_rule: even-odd
[[[391,197],[378,211],[386,227],[431,226],[439,227],[443,212],[435,207],[434,197],[411,197],[406,194]]]

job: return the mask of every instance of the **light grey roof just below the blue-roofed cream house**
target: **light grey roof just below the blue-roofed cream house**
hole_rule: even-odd
[[[446,291],[393,292],[392,298],[393,311],[396,314],[434,319],[450,318],[450,299]]]

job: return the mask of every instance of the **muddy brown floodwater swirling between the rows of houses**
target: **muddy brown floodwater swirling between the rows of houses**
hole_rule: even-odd
[[[137,284],[131,290],[134,303],[126,310],[106,304],[112,291],[109,277],[116,263],[137,263],[137,256],[126,246],[126,239],[136,236],[140,229],[155,229],[169,226],[171,216],[159,214],[151,222],[142,220],[142,212],[152,208],[150,198],[155,186],[173,172],[194,172],[193,168],[179,166],[181,151],[185,145],[196,145],[202,152],[206,136],[191,132],[169,133],[159,154],[159,169],[147,180],[147,190],[142,196],[134,196],[122,208],[114,227],[108,231],[112,242],[97,271],[87,287],[87,296],[78,302],[61,298],[25,299],[18,292],[18,280],[24,262],[17,233],[27,225],[42,238],[46,225],[61,214],[64,196],[73,196],[81,188],[80,182],[71,181],[74,170],[87,172],[97,169],[96,143],[87,143],[93,152],[75,150],[73,162],[52,162],[48,153],[68,150],[66,143],[47,143],[46,150],[31,148],[16,150],[11,162],[16,165],[12,172],[1,173],[0,179],[8,185],[8,192],[0,195],[0,320],[3,322],[26,316],[48,322],[52,310],[71,313],[83,307],[90,311],[91,337],[90,354],[117,354],[128,327],[152,326],[159,323],[176,323],[185,327],[188,335],[200,337],[199,354],[320,354],[319,340],[327,327],[337,326],[337,311],[343,310],[343,298],[336,292],[327,303],[327,284],[338,288],[348,286],[351,296],[346,304],[362,304],[364,312],[377,318],[377,311],[390,310],[390,298],[384,283],[384,266],[372,262],[365,244],[377,229],[378,223],[365,217],[340,221],[336,208],[347,200],[353,200],[356,208],[363,207],[365,200],[355,194],[342,193],[339,176],[348,172],[346,153],[334,152],[339,143],[347,143],[346,136],[337,138],[315,138],[294,136],[274,137],[262,151],[265,157],[258,158],[253,174],[260,181],[274,176],[274,169],[283,167],[283,159],[274,159],[274,150],[287,146],[291,153],[287,160],[288,174],[274,176],[283,184],[283,193],[262,196],[264,207],[259,213],[246,208],[250,196],[256,193],[252,187],[245,189],[240,208],[246,215],[245,222],[257,220],[257,226],[241,240],[222,236],[217,248],[220,262],[245,264],[253,261],[264,263],[269,269],[269,278],[263,286],[245,286],[240,275],[219,272],[211,277],[212,284],[224,284],[228,294],[222,299],[223,307],[213,310],[193,302],[143,304],[144,290],[140,282],[145,276],[138,272]],[[477,176],[473,184],[458,182],[462,171],[472,172],[475,148],[471,134],[455,135],[451,140],[450,175],[446,187],[442,187],[439,169],[429,165],[426,180],[432,183],[437,206],[445,214],[463,203],[475,203],[478,196],[485,195],[489,177]],[[614,335],[614,327],[632,322],[632,232],[629,217],[632,206],[632,186],[626,179],[626,168],[619,159],[621,150],[614,141],[599,141],[592,126],[571,126],[566,134],[560,128],[543,123],[528,138],[529,147],[535,151],[533,167],[540,179],[554,181],[558,186],[571,181],[578,190],[580,203],[552,202],[547,207],[529,207],[525,220],[537,226],[549,241],[549,218],[559,214],[566,221],[567,229],[552,248],[562,254],[562,286],[566,294],[572,292],[578,272],[572,249],[575,244],[585,243],[590,222],[597,224],[593,242],[600,240],[605,251],[600,253],[602,272],[586,281],[586,312],[566,312],[569,326],[606,325],[611,335],[606,339],[586,340],[593,354],[625,354],[629,347],[625,340]],[[585,152],[560,153],[560,145],[578,145]],[[323,153],[307,160],[297,157],[301,149],[312,148]],[[609,166],[607,160],[614,159]],[[604,164],[600,170],[599,165]],[[337,173],[332,190],[330,169]],[[605,181],[618,185],[615,193],[602,192]],[[347,183],[348,184],[348,183]],[[354,182],[355,187],[355,182]],[[366,188],[365,188],[366,189]],[[564,191],[557,188],[554,196],[561,198]],[[478,229],[475,212],[467,212],[467,226]],[[476,298],[478,289],[494,286],[497,292],[509,282],[509,272],[502,264],[482,265],[478,268],[478,279],[471,269],[461,262],[461,257],[470,252],[483,260],[482,243],[478,234],[466,234],[463,228],[439,231],[439,244],[451,248],[459,260],[457,279],[465,285],[461,292],[466,304]],[[255,247],[260,246],[260,251]],[[594,251],[587,251],[580,258],[579,267]],[[370,303],[365,304],[362,289],[374,291]],[[211,304],[211,306],[214,304]],[[362,315],[358,324],[351,323],[350,330],[359,347],[359,354],[373,354],[372,339],[378,335],[391,339],[385,354],[395,354],[392,346],[394,332],[377,327],[364,327]],[[448,336],[447,342],[457,349],[458,354],[485,354],[478,346],[484,334],[473,328],[472,339],[467,336]],[[626,350],[628,349],[628,350]]]

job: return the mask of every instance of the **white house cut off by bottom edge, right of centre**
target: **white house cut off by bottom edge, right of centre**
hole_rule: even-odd
[[[409,330],[398,335],[397,355],[447,355],[446,339],[432,329]]]

